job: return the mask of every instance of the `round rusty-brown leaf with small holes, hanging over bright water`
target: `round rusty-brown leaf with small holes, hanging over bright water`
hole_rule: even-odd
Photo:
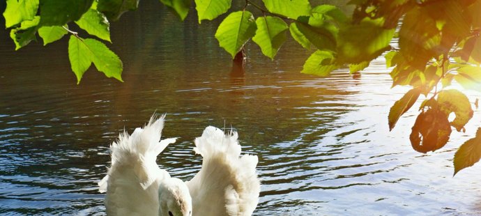
[[[416,118],[409,140],[415,151],[427,153],[443,148],[448,143],[450,134],[448,116],[439,109],[431,108]]]

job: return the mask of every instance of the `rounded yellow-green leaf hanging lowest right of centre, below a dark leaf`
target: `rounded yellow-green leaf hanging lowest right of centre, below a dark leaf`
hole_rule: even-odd
[[[335,58],[331,52],[317,50],[305,61],[301,72],[325,77],[337,68],[339,65],[335,64]]]

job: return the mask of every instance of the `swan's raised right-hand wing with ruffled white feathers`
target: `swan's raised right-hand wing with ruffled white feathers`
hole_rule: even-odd
[[[207,127],[195,139],[202,155],[199,173],[187,185],[193,215],[252,215],[259,201],[260,183],[255,167],[257,156],[242,155],[237,133]]]

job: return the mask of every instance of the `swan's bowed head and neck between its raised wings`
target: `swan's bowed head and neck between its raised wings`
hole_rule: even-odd
[[[189,188],[178,178],[163,180],[159,185],[160,216],[191,216],[192,198]]]

